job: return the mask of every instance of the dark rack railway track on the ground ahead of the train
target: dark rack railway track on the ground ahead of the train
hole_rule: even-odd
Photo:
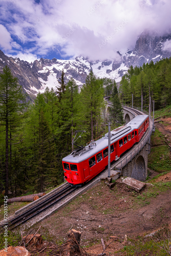
[[[30,220],[31,218],[33,218],[34,216],[38,215],[40,212],[46,210],[48,207],[54,205],[55,203],[57,203],[61,199],[65,198],[67,195],[69,195],[70,193],[72,193],[76,189],[77,189],[77,187],[71,187],[70,185],[65,187],[64,189],[58,191],[53,196],[48,197],[43,202],[35,205],[34,207],[30,208],[29,210],[27,210],[23,214],[21,214],[21,215],[17,216],[16,218],[10,220],[9,223],[8,223],[8,227],[13,226],[15,228],[15,227],[23,224],[24,222],[26,222],[26,221]],[[0,226],[0,228],[3,227],[3,226],[4,225]]]

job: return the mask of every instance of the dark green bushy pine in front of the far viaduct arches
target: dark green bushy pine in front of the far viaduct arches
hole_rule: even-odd
[[[124,124],[124,113],[122,105],[120,104],[118,94],[115,94],[115,96],[111,98],[111,101],[113,105],[110,106],[109,109],[109,121],[112,123],[114,127],[118,127],[118,124]]]

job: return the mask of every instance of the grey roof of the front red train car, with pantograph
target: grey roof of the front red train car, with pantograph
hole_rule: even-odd
[[[135,128],[132,128],[131,126],[124,125],[112,130],[110,132],[110,143],[115,143],[116,141],[120,140],[120,138],[123,138],[124,135],[126,136],[130,132],[134,131],[134,129]],[[81,150],[78,150],[76,154],[72,152],[70,155],[64,157],[62,161],[69,163],[80,163],[102,151],[108,146],[108,133],[106,133],[104,137],[100,138],[95,143],[90,143],[88,146],[83,147]]]

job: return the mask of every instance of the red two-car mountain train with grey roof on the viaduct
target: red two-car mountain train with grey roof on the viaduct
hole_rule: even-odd
[[[110,161],[138,142],[148,128],[148,115],[138,115],[124,126],[111,131]],[[62,159],[65,179],[72,186],[81,186],[108,164],[108,133],[99,140],[72,152]]]

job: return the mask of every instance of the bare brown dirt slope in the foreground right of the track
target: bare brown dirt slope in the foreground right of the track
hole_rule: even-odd
[[[104,182],[98,183],[65,208],[42,221],[42,225],[56,238],[64,240],[71,227],[80,230],[81,246],[92,246],[100,243],[101,238],[107,243],[111,235],[120,239],[123,239],[125,234],[144,236],[164,223],[171,222],[169,188],[159,187],[156,190],[155,186],[147,185],[140,194],[137,194],[120,183],[121,181],[117,181],[113,190]],[[137,196],[149,191],[156,194],[156,197],[137,199]],[[86,250],[89,251],[88,248]]]

